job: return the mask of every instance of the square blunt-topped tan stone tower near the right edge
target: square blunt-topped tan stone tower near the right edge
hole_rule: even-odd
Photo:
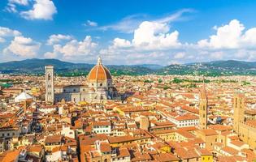
[[[234,95],[233,107],[233,129],[239,134],[239,124],[245,120],[245,95],[243,93],[237,92]]]

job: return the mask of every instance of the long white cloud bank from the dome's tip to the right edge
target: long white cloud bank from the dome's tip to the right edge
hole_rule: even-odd
[[[129,62],[142,63],[152,59],[160,64],[256,58],[256,28],[246,29],[244,24],[233,19],[228,24],[215,25],[214,29],[214,35],[193,44],[180,42],[179,32],[171,31],[170,24],[164,19],[144,21],[134,30],[131,40],[115,38],[100,53],[111,59],[124,58],[125,53],[130,56],[126,58]],[[155,55],[158,57],[153,57]]]

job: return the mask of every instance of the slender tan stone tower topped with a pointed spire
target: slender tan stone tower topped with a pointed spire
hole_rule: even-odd
[[[203,83],[202,88],[200,90],[200,98],[199,98],[199,128],[206,129],[207,128],[207,112],[208,112],[208,100],[206,93],[206,84]]]

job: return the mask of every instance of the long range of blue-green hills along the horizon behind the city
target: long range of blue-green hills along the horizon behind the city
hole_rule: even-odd
[[[58,59],[26,59],[0,63],[0,73],[43,74],[46,65],[53,65],[60,75],[87,75],[94,64],[63,62]],[[110,65],[112,75],[256,75],[256,62],[236,60],[195,62],[181,65],[156,64]]]

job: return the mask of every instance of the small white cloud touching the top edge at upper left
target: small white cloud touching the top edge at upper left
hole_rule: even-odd
[[[53,15],[57,13],[54,2],[51,0],[35,0],[33,9],[29,11],[22,11],[20,15],[24,19],[53,19]]]

